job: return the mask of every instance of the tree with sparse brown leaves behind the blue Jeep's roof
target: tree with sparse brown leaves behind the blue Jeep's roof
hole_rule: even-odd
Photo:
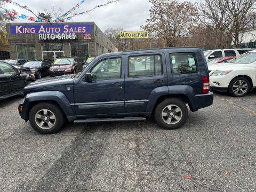
[[[143,29],[165,39],[167,46],[179,45],[179,39],[191,33],[196,22],[197,10],[191,2],[149,0],[153,4],[150,18]]]

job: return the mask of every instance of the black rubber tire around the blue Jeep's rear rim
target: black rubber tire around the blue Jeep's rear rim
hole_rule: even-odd
[[[169,110],[168,112],[166,112],[166,114],[169,114],[169,115],[172,114],[173,116],[167,115],[165,117],[162,117],[162,112],[165,113],[164,110],[167,110],[166,107],[169,106],[169,105],[173,105],[173,108],[171,110]],[[177,108],[175,106],[177,106]],[[180,108],[181,112],[177,113],[175,110],[178,109],[178,108]],[[180,116],[179,121],[176,120],[176,118],[177,118],[176,115]],[[187,121],[187,118],[188,118],[188,108],[187,108],[186,104],[182,100],[180,100],[178,98],[168,98],[168,99],[165,99],[164,101],[162,101],[161,103],[159,103],[156,106],[154,117],[155,117],[156,123],[159,126],[163,127],[164,129],[169,129],[169,130],[178,129],[183,124],[185,124],[185,122]],[[164,121],[164,118],[166,118],[166,121],[167,121],[168,118],[170,118],[171,122],[173,121],[172,122],[173,124],[166,123]],[[177,123],[175,123],[175,122],[177,122]]]

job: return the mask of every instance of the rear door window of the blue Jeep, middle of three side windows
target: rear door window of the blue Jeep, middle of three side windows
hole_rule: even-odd
[[[161,55],[129,57],[129,77],[162,75]]]

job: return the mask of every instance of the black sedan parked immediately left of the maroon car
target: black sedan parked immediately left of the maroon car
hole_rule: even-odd
[[[42,61],[27,61],[23,67],[29,67],[31,70],[31,73],[35,75],[36,78],[41,78],[43,76],[49,75],[50,67],[51,67],[51,61],[42,60]]]

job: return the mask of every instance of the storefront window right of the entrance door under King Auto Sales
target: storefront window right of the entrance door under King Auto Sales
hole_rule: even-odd
[[[70,43],[71,56],[77,56],[80,61],[89,57],[88,43]]]

